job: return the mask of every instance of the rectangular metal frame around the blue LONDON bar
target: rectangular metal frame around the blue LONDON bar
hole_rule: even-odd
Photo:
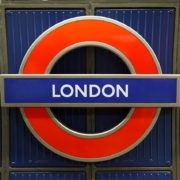
[[[177,107],[179,102],[179,90],[180,90],[180,75],[160,74],[160,75],[141,75],[141,74],[129,74],[129,75],[117,75],[117,74],[62,74],[62,75],[18,75],[18,74],[3,74],[0,75],[1,79],[1,106],[2,107]],[[69,79],[69,78],[113,78],[113,79],[176,79],[176,103],[5,103],[4,92],[4,80],[5,79]],[[49,111],[49,110],[48,110]]]

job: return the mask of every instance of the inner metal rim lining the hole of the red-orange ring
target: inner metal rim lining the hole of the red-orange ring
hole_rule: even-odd
[[[75,18],[77,19],[77,18]],[[81,18],[80,18],[81,19]],[[89,19],[89,18],[88,18]],[[68,20],[69,21],[69,20]],[[116,48],[108,45],[108,44],[105,44],[105,43],[102,43],[102,42],[97,42],[97,41],[86,41],[86,42],[80,42],[80,43],[76,43],[76,44],[73,44],[71,46],[68,46],[67,48],[63,49],[60,53],[58,53],[54,59],[52,59],[51,63],[49,64],[49,66],[46,68],[46,74],[50,73],[51,69],[53,68],[54,64],[58,61],[58,59],[60,59],[63,55],[65,55],[66,53],[68,53],[69,51],[73,50],[73,49],[76,49],[76,48],[80,48],[80,47],[85,47],[85,46],[95,46],[95,47],[102,47],[104,49],[107,49],[107,50],[110,50],[112,51],[114,54],[116,54],[119,58],[121,58],[124,63],[128,66],[130,72],[132,74],[135,74],[135,70],[131,64],[131,62],[128,60],[128,58],[123,54],[121,53],[119,50],[117,50]],[[152,54],[152,53],[151,53]],[[155,54],[154,54],[155,55]],[[157,59],[156,59],[157,60]],[[157,64],[156,64],[157,65]],[[160,65],[158,67],[160,69]],[[21,69],[21,68],[20,68]],[[159,70],[158,69],[158,70]],[[82,75],[80,75],[80,77],[82,77]],[[72,104],[71,104],[72,105]],[[111,107],[115,107],[114,105],[115,104],[109,104]],[[96,104],[96,105],[88,105],[88,104],[74,104],[73,106],[70,106],[70,107],[103,107],[103,104],[99,103],[99,104]],[[50,107],[50,106],[46,106],[46,107]],[[67,104],[64,104],[64,107],[67,107]],[[118,107],[118,106],[117,106]],[[123,107],[123,105],[122,105]],[[86,138],[98,138],[98,137],[102,137],[102,136],[105,136],[105,135],[109,135],[113,132],[115,132],[117,129],[119,129],[120,127],[122,127],[125,122],[128,121],[128,118],[132,115],[132,113],[134,112],[134,107],[131,106],[131,110],[130,112],[127,114],[127,116],[123,119],[123,121],[121,123],[119,123],[117,126],[115,126],[114,128],[110,129],[109,131],[105,131],[103,133],[95,133],[95,134],[83,134],[83,133],[78,133],[76,131],[73,131],[69,128],[67,128],[66,126],[64,126],[62,123],[60,123],[56,117],[53,115],[52,111],[50,110],[50,108],[46,108],[46,111],[48,112],[48,114],[50,115],[51,119],[58,125],[58,127],[64,129],[65,131],[67,131],[68,133],[70,134],[73,134],[75,136],[79,136],[79,137],[86,137]]]

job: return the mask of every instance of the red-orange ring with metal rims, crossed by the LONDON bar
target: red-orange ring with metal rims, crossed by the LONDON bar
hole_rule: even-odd
[[[62,55],[89,45],[113,51],[131,73],[161,73],[154,52],[137,32],[118,21],[95,16],[72,18],[45,31],[29,48],[19,73],[48,74]],[[95,162],[120,156],[137,146],[154,126],[160,109],[133,108],[122,123],[96,134],[65,127],[48,108],[25,107],[21,111],[31,132],[48,149],[70,159]]]

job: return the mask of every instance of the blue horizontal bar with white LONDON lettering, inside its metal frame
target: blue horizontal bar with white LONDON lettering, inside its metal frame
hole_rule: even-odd
[[[176,103],[177,80],[4,78],[5,103]]]

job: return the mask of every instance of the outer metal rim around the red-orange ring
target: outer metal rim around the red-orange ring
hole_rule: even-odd
[[[157,57],[156,55],[154,54],[153,50],[151,49],[151,47],[149,46],[149,44],[136,32],[134,31],[133,29],[131,29],[130,27],[116,21],[116,20],[112,20],[112,19],[109,19],[109,18],[104,18],[104,17],[95,17],[95,16],[84,16],[84,17],[76,17],[76,18],[72,18],[70,20],[66,20],[66,21],[63,21],[61,23],[58,23],[57,25],[53,26],[52,29],[48,29],[47,31],[45,31],[45,33],[43,33],[41,36],[39,36],[38,39],[35,40],[35,42],[31,45],[31,47],[29,48],[28,52],[26,53],[24,59],[23,59],[23,62],[21,64],[21,67],[20,67],[20,71],[19,73],[21,73],[21,70],[23,69],[24,67],[24,64],[25,64],[25,61],[28,57],[28,55],[30,54],[30,52],[32,51],[33,47],[41,40],[41,38],[43,38],[46,34],[48,34],[51,30],[53,30],[54,28],[56,27],[59,27],[59,26],[62,26],[64,24],[67,24],[67,23],[70,23],[70,22],[74,22],[74,21],[78,21],[78,20],[88,20],[88,19],[96,19],[96,20],[104,20],[106,22],[110,22],[110,23],[114,23],[118,26],[123,26],[125,27],[126,30],[128,30],[129,32],[133,33],[145,46],[146,48],[148,49],[148,51],[150,52],[150,54],[152,55],[153,59],[154,59],[154,63],[156,64],[156,67],[158,69],[158,72],[159,73],[162,73],[161,72],[161,67],[160,67],[160,64],[157,60]],[[27,126],[30,128],[30,130],[32,131],[32,133],[35,135],[35,137],[37,139],[39,139],[39,141],[44,144],[47,148],[49,148],[50,150],[52,150],[53,152],[55,152],[56,154],[59,154],[59,155],[62,155],[64,157],[69,157],[71,159],[74,159],[74,160],[78,160],[78,161],[86,161],[86,162],[97,162],[99,160],[101,161],[104,161],[104,160],[108,160],[108,159],[112,159],[114,157],[117,157],[121,154],[124,154],[128,151],[130,151],[133,147],[137,146],[146,136],[147,134],[149,133],[149,131],[151,131],[152,127],[154,126],[156,120],[157,120],[157,117],[160,113],[160,108],[157,109],[156,111],[156,115],[151,123],[151,126],[146,130],[146,132],[144,133],[144,135],[138,139],[132,146],[128,147],[127,149],[125,149],[124,151],[121,151],[120,153],[116,153],[114,155],[111,155],[111,156],[106,156],[106,157],[103,157],[103,158],[92,158],[92,159],[88,159],[88,158],[79,158],[79,157],[74,157],[74,156],[71,156],[71,155],[68,155],[68,154],[65,154],[63,152],[60,152],[56,149],[54,149],[52,146],[50,146],[49,144],[47,144],[41,137],[39,137],[38,134],[36,134],[36,132],[34,132],[34,130],[32,129],[31,125],[29,124],[28,120],[26,119],[25,117],[25,114],[23,113],[23,110],[21,109],[21,112],[23,114],[23,117],[25,118],[25,122],[27,124]]]

